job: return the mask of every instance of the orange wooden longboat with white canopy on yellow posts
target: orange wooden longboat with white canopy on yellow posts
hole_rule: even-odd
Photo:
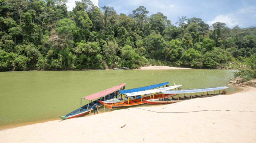
[[[114,103],[114,104],[110,104],[110,105],[105,104],[105,106],[108,108],[120,108],[120,107],[131,107],[131,106],[145,104],[146,102],[144,100],[161,99],[161,98],[167,98],[169,96],[175,95],[175,94],[161,94],[160,91],[172,90],[172,89],[176,89],[176,88],[180,89],[180,86],[181,85],[175,85],[175,86],[171,86],[171,87],[165,87],[165,88],[154,89],[154,90],[126,93],[126,96],[128,96],[128,101],[123,101],[123,102]],[[139,95],[139,98],[138,98],[138,95]],[[146,96],[143,98],[144,95],[146,95]],[[101,101],[99,101],[99,102],[101,104],[104,104]]]

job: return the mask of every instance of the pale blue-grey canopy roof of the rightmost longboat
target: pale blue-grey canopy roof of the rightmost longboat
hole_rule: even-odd
[[[214,90],[222,90],[228,87],[210,87],[210,88],[197,88],[197,89],[182,89],[182,90],[170,90],[170,91],[161,91],[163,94],[184,94],[184,93],[198,93],[198,92],[207,92]]]

